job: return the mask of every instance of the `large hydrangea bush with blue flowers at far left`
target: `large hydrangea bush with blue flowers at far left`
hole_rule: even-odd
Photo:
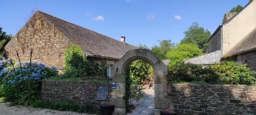
[[[17,53],[18,56],[18,53]],[[31,53],[32,56],[32,53]],[[18,62],[4,68],[0,73],[1,95],[5,101],[19,105],[30,105],[40,97],[41,81],[58,74],[56,67],[49,67],[39,61]]]

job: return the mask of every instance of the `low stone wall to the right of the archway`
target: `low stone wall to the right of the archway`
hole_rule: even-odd
[[[166,85],[165,98],[179,114],[256,114],[256,86]]]

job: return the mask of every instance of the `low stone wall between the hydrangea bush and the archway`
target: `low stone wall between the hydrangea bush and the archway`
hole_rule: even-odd
[[[111,83],[88,83],[89,91],[84,93],[86,82],[83,81],[42,81],[42,98],[48,101],[63,101],[70,103],[81,103],[84,97],[88,97],[87,102],[95,106],[110,102],[112,97]],[[100,86],[108,86],[109,94],[106,100],[96,101],[98,88]]]

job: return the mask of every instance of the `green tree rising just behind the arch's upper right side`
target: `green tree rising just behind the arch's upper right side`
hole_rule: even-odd
[[[166,53],[175,48],[176,45],[175,43],[172,42],[172,40],[158,40],[159,41],[159,46],[155,45],[152,47],[152,52],[161,60],[167,59]]]

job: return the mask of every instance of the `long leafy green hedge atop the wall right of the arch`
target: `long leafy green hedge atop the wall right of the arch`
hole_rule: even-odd
[[[225,61],[212,65],[178,63],[168,65],[168,81],[173,82],[205,82],[219,84],[246,84],[255,80],[256,73],[245,64],[238,65],[235,61]]]

